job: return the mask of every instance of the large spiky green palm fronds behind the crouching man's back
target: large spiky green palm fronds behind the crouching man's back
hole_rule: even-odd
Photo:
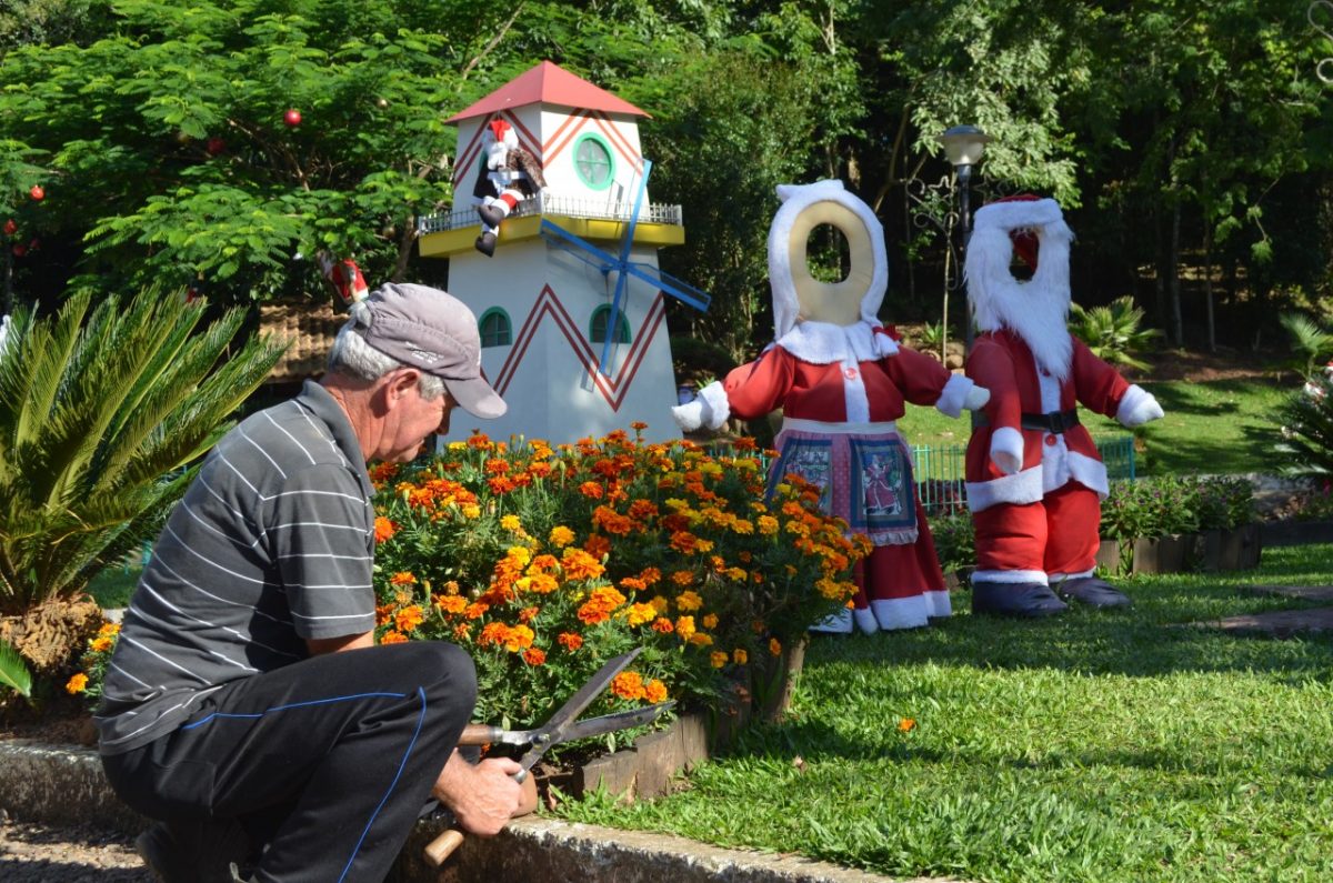
[[[145,291],[12,316],[0,348],[0,614],[83,592],[160,528],[283,347]],[[223,356],[227,355],[227,359]]]

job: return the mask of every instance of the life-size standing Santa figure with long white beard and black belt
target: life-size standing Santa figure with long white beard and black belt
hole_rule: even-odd
[[[990,401],[968,444],[973,612],[1049,616],[1068,610],[1061,599],[1129,604],[1093,576],[1106,467],[1077,405],[1126,427],[1162,409],[1069,333],[1072,239],[1050,199],[1009,197],[976,213],[965,272],[980,333],[966,371]],[[1014,255],[1030,279],[1014,277]]]

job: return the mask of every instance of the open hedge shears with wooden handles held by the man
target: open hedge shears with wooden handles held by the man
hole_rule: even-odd
[[[616,679],[616,675],[624,671],[640,652],[643,652],[643,647],[636,647],[628,654],[607,660],[607,663],[597,670],[597,674],[589,678],[588,682],[579,688],[579,692],[571,696],[569,700],[565,702],[565,704],[563,704],[549,720],[547,720],[547,723],[541,724],[536,730],[504,730],[501,727],[473,723],[463,728],[463,735],[459,736],[459,746],[505,746],[509,748],[525,747],[527,751],[516,758],[521,768],[519,772],[513,774],[515,782],[523,782],[528,778],[528,772],[533,766],[536,766],[537,760],[540,760],[541,756],[547,754],[547,750],[553,746],[563,742],[587,739],[589,736],[601,736],[608,732],[616,732],[617,730],[629,730],[631,727],[643,727],[644,724],[652,723],[659,715],[661,715],[661,712],[666,711],[676,703],[659,702],[655,706],[647,706],[644,708],[632,708],[629,711],[617,711],[615,714],[601,715],[600,718],[577,720],[579,715],[583,714],[583,711],[591,706],[607,687],[611,686],[611,682]],[[427,846],[425,858],[432,866],[439,867],[447,858],[449,858],[460,843],[463,843],[463,831],[449,828]]]

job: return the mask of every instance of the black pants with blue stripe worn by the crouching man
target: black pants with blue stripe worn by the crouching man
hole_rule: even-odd
[[[235,819],[265,882],[389,872],[476,702],[468,655],[409,642],[232,682],[183,727],[103,758],[116,792],[167,822]]]

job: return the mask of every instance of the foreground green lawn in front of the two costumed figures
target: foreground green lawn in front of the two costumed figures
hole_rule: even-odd
[[[1330,880],[1333,642],[1189,626],[1300,607],[1242,587],[1329,584],[1330,560],[1272,548],[1258,571],[1138,578],[1130,611],[1048,622],[974,618],[958,592],[928,630],[816,636],[789,722],[676,795],[560,814],[888,875]]]

